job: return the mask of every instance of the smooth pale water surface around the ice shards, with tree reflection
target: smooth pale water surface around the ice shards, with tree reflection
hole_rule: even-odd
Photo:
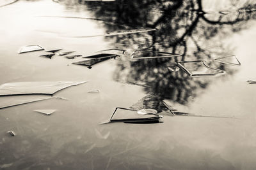
[[[184,10],[191,5],[186,1],[179,10],[166,13],[157,24],[162,10],[168,11],[166,3],[147,4],[141,10],[143,1],[86,2],[86,5],[69,2],[20,0],[0,8],[0,22],[4,23],[0,27],[0,84],[90,80],[58,92],[58,96],[68,100],[54,98],[1,109],[1,168],[255,169],[256,87],[246,82],[256,80],[255,20],[225,25],[227,20],[236,20],[232,17],[237,15],[232,13],[221,17],[224,24],[218,24],[215,21],[219,20],[219,14],[208,13],[204,19]],[[239,1],[237,7],[244,2]],[[228,3],[218,6],[203,1],[202,4],[207,11],[229,8],[234,11],[234,6]],[[122,15],[112,8],[123,11]],[[186,12],[189,18],[179,17],[186,16]],[[241,13],[239,18],[246,18]],[[154,25],[157,31],[70,38],[104,35],[125,27],[100,20],[36,17],[44,15],[116,18],[119,22],[130,20],[127,25]],[[179,22],[168,22],[171,19]],[[193,32],[186,33],[184,41],[179,41],[190,27]],[[21,46],[37,44],[47,50],[74,50],[83,56],[113,48],[126,52],[119,59],[100,62],[92,69],[71,64],[82,60],[79,57],[68,60],[55,55],[49,60],[38,57],[45,51],[17,54]],[[138,48],[182,56],[129,60]],[[175,62],[209,63],[227,55],[236,55],[241,66],[214,62],[214,67],[227,72],[218,77],[191,78],[184,71],[168,71]],[[100,93],[88,93],[92,89],[100,89]],[[176,117],[166,113],[163,124],[100,125],[109,120],[116,107],[166,111],[161,104],[164,100],[172,101],[173,110],[180,113],[237,118]],[[58,114],[47,117],[34,111],[49,108],[58,110]],[[7,131],[15,132],[16,136],[13,138]]]

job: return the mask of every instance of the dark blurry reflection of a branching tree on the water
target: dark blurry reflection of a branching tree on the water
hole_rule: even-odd
[[[132,25],[133,29],[140,27],[157,29],[147,33],[106,37],[106,40],[113,42],[111,48],[129,51],[140,48],[182,55],[168,59],[135,61],[129,60],[129,55],[126,55],[118,60],[114,79],[147,83],[150,87],[145,87],[145,91],[153,97],[142,99],[142,105],[144,108],[155,109],[161,107],[160,103],[163,99],[186,104],[189,96],[195,97],[198,90],[205,89],[211,81],[216,80],[190,78],[183,71],[170,73],[166,67],[175,66],[175,62],[180,60],[206,60],[211,65],[214,57],[232,54],[232,49],[223,45],[223,39],[232,32],[244,29],[248,20],[256,18],[256,4],[253,4],[253,1],[239,2],[236,4],[243,6],[236,8],[230,6],[229,9],[232,9],[230,11],[207,12],[204,11],[201,0],[116,0],[115,2],[79,0],[79,4],[86,4],[92,10],[95,18],[119,23],[105,24],[107,32],[123,29],[122,24]],[[227,69],[224,64],[215,64],[216,66],[227,71],[228,75],[236,72],[236,67]]]

